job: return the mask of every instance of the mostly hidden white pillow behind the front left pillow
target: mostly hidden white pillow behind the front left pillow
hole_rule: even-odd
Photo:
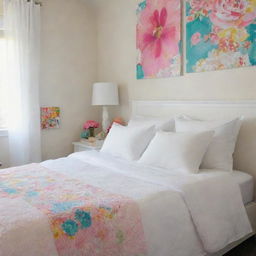
[[[173,118],[159,118],[159,117],[145,117],[135,116],[133,117],[128,126],[155,126],[156,130],[173,132],[175,128],[175,120]]]

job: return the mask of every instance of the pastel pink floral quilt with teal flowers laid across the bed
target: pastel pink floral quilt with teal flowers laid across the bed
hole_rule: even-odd
[[[146,255],[140,210],[131,198],[39,164],[1,171],[0,200],[3,198],[22,199],[47,216],[60,256]]]

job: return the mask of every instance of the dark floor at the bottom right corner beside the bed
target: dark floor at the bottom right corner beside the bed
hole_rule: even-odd
[[[256,256],[256,237],[249,238],[225,256]]]

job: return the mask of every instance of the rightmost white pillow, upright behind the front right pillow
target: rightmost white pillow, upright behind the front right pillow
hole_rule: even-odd
[[[175,119],[175,129],[177,132],[214,130],[214,138],[200,168],[232,171],[233,153],[241,123],[240,118],[231,121],[200,121],[181,117]]]

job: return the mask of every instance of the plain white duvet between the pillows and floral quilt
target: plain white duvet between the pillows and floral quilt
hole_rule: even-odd
[[[94,151],[42,165],[136,200],[149,256],[206,255],[251,232],[238,185],[228,173],[181,175],[173,170],[170,174]],[[202,191],[205,186],[211,189]],[[220,197],[216,190],[226,196]]]

